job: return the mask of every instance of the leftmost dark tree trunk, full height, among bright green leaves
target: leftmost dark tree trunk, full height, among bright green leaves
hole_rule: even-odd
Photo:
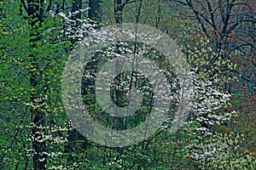
[[[38,103],[38,93],[39,93],[39,65],[38,65],[38,54],[37,54],[37,42],[40,40],[40,34],[38,32],[39,27],[41,26],[43,20],[43,13],[40,12],[43,9],[40,9],[40,4],[42,1],[32,0],[27,1],[27,14],[29,15],[28,24],[30,26],[30,93],[32,105],[40,105],[44,102],[44,99],[41,99]],[[44,141],[44,113],[39,111],[38,108],[32,106],[31,109],[32,115],[32,149],[35,151],[33,155],[33,168],[36,170],[46,169],[46,144]]]

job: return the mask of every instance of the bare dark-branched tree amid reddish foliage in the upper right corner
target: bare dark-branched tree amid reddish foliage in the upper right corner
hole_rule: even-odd
[[[240,95],[241,88],[247,84],[249,99],[253,99],[255,91],[255,76],[253,74],[255,56],[255,38],[253,26],[255,25],[255,5],[253,1],[177,1],[189,10],[189,18],[196,20],[203,34],[212,37],[213,51],[220,52],[220,57],[229,59],[233,66],[222,65],[221,72],[230,77],[224,84],[234,96]],[[251,56],[248,58],[247,56]],[[214,62],[215,59],[210,61]],[[244,66],[244,63],[247,66]],[[234,67],[236,65],[236,67]],[[237,83],[238,81],[241,83]],[[239,86],[237,86],[239,84]],[[243,85],[242,85],[243,84]],[[250,97],[250,96],[251,97]],[[255,107],[246,102],[244,110],[254,111]],[[236,103],[236,109],[241,111],[241,104]],[[247,109],[245,109],[245,107]],[[250,112],[248,111],[248,112]],[[243,111],[242,111],[243,112]]]

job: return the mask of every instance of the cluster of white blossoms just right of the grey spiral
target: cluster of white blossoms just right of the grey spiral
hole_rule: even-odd
[[[193,121],[198,122],[199,126],[195,126],[190,131],[198,132],[192,145],[188,146],[192,158],[206,164],[229,157],[227,148],[229,145],[218,141],[222,137],[221,133],[212,132],[212,126],[219,126],[222,122],[230,122],[231,116],[236,114],[236,111],[225,111],[229,106],[231,95],[224,92],[218,87],[215,87],[214,82],[206,82],[195,80],[195,103],[193,105]],[[188,124],[189,124],[188,123]],[[202,142],[204,141],[204,142]]]

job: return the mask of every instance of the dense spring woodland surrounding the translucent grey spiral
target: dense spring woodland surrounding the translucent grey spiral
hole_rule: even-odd
[[[253,0],[3,0],[0,6],[0,169],[256,169]],[[170,100],[170,116],[154,135],[112,148],[86,139],[70,124],[61,75],[90,31],[123,23],[152,26],[172,37],[195,73],[197,97],[177,133],[168,133],[177,110]],[[107,119],[94,94],[93,75],[104,59],[145,48],[113,44],[84,69],[84,104],[102,125],[132,128],[150,114],[152,103],[143,100],[138,116]],[[164,56],[150,51],[148,58],[178,84]],[[135,77],[150,99],[150,82]],[[173,95],[181,88],[173,86]],[[112,92],[113,100],[125,105],[124,92],[115,86]]]

